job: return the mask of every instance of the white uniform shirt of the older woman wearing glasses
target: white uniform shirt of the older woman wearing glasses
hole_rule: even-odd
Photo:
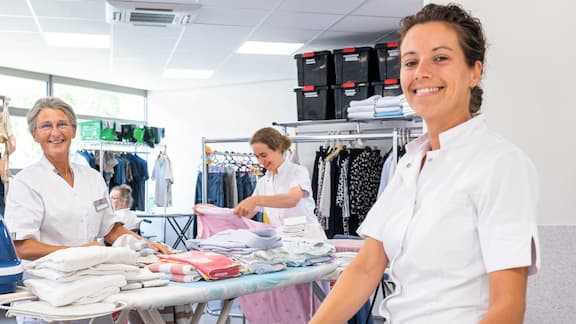
[[[10,184],[5,220],[14,240],[79,246],[110,232],[116,216],[102,176],[71,164],[74,187],[42,159],[20,171]]]

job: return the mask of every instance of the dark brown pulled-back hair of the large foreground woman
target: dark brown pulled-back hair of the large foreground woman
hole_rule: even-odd
[[[480,61],[484,66],[486,54],[486,37],[482,29],[482,24],[478,18],[473,17],[460,5],[449,3],[447,5],[428,4],[416,14],[406,16],[400,21],[398,34],[400,43],[410,30],[417,24],[427,22],[444,22],[452,26],[458,34],[460,47],[464,52],[466,64],[473,67],[476,61]],[[480,111],[482,105],[482,88],[475,86],[471,90],[470,105],[468,110],[472,115]]]

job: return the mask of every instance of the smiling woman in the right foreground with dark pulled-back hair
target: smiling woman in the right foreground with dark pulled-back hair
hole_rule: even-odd
[[[428,133],[358,232],[365,244],[311,323],[343,323],[389,266],[387,323],[522,323],[539,264],[534,165],[479,114],[486,43],[457,5],[400,23],[401,84]]]

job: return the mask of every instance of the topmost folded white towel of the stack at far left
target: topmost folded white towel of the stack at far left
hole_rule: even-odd
[[[100,263],[136,265],[136,252],[128,248],[104,246],[72,247],[52,252],[25,266],[29,269],[54,269],[72,272],[90,268]]]

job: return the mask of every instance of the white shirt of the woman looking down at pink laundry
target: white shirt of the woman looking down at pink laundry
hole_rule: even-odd
[[[304,196],[296,206],[292,208],[264,207],[259,209],[266,213],[270,224],[282,226],[284,224],[284,218],[297,216],[306,216],[306,220],[310,224],[318,223],[314,215],[315,203],[314,199],[312,199],[310,175],[308,174],[308,169],[301,165],[284,160],[278,167],[278,172],[275,175],[268,171],[262,178],[258,179],[252,195],[269,196],[285,194],[296,186],[300,186],[300,188],[305,191]]]

